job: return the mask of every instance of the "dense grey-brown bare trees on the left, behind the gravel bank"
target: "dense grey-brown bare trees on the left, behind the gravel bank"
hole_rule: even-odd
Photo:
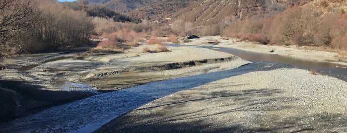
[[[103,6],[56,0],[0,1],[0,57],[88,44],[95,20],[140,22]]]

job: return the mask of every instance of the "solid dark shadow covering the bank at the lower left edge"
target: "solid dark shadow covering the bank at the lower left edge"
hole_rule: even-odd
[[[82,91],[45,90],[39,81],[0,80],[0,123],[92,95]]]

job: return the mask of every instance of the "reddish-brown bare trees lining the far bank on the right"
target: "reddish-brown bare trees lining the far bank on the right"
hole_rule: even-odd
[[[262,44],[313,45],[347,50],[347,14],[324,13],[311,7],[295,5],[273,17],[233,22],[225,28],[224,35]]]

